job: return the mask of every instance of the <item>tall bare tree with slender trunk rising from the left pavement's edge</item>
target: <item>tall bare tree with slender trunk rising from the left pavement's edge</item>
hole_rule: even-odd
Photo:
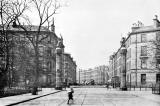
[[[33,87],[33,95],[37,94],[38,91],[38,83],[39,83],[39,70],[40,70],[40,54],[39,54],[39,47],[40,44],[49,37],[48,34],[43,33],[44,29],[49,31],[50,21],[52,20],[53,16],[56,14],[57,10],[61,7],[61,3],[58,0],[31,0],[30,6],[33,7],[34,12],[37,13],[37,20],[38,25],[37,27],[34,27],[33,23],[30,21],[29,18],[27,18],[27,21],[29,22],[30,27],[25,27],[21,24],[19,18],[17,18],[17,22],[25,32],[26,37],[31,42],[34,52],[35,52],[35,70],[34,70],[34,87]],[[29,17],[29,16],[28,16]],[[47,26],[44,28],[44,26]],[[34,28],[34,29],[33,29]],[[35,33],[31,33],[30,31],[34,30]]]

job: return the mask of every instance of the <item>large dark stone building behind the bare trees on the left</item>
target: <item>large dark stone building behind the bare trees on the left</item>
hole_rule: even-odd
[[[24,26],[30,34],[32,40],[37,33],[38,26]],[[58,37],[55,34],[54,23],[52,30],[41,27],[40,37],[45,39],[39,43],[39,85],[44,87],[55,86],[56,59],[55,49]],[[9,79],[12,86],[32,86],[34,80],[35,53],[33,45],[25,36],[26,32],[20,27],[10,26],[8,30],[10,41],[10,60],[11,68],[9,70]]]

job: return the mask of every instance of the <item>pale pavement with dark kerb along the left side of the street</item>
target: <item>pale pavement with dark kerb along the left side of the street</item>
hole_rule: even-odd
[[[13,106],[30,100],[34,100],[43,96],[58,93],[61,90],[55,90],[54,88],[42,88],[42,91],[38,92],[38,95],[32,95],[31,93],[9,96],[0,98],[0,106]]]

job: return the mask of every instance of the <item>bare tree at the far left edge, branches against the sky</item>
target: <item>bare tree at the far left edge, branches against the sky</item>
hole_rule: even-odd
[[[27,0],[1,0],[0,1],[0,89],[7,85],[6,76],[9,73],[11,35],[10,26],[15,25],[15,19],[22,17],[28,9]]]

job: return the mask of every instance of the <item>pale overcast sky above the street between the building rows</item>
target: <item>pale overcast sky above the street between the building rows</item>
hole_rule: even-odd
[[[154,15],[160,17],[160,0],[69,0],[56,15],[56,33],[78,68],[93,68],[108,64],[133,23],[151,25]]]

